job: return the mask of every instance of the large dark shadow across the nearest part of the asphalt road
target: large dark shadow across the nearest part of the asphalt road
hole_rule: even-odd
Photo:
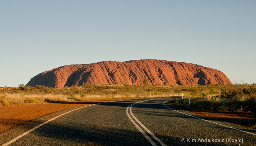
[[[39,122],[39,121],[37,121]],[[217,146],[220,143],[182,143],[181,138],[156,135],[166,145],[206,145]],[[152,138],[153,139],[153,138]],[[156,141],[155,141],[156,142]],[[21,145],[129,145],[148,146],[150,143],[137,130],[118,129],[95,124],[75,123],[60,124],[51,122],[36,129],[28,136],[19,139],[15,144]],[[157,142],[156,142],[157,143]],[[159,144],[159,143],[157,143]]]

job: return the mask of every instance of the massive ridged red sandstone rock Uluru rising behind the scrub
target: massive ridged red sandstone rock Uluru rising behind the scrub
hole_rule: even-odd
[[[149,85],[232,84],[216,69],[185,62],[143,59],[61,66],[39,73],[27,85],[54,88],[83,83],[143,85],[144,79],[148,79]]]

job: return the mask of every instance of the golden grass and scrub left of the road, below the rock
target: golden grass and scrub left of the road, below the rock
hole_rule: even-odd
[[[36,87],[2,87],[0,88],[0,105],[67,103],[95,99],[119,99],[159,97],[173,95],[169,86],[150,86],[145,92],[144,86],[137,85],[92,85],[71,86],[61,89],[37,85]]]

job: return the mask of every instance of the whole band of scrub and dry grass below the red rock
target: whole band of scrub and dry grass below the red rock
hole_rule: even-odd
[[[119,99],[179,96],[176,105],[187,109],[212,111],[247,111],[256,113],[256,85],[207,85],[207,86],[171,86],[171,85],[92,85],[54,89],[37,85],[36,87],[0,88],[0,106],[11,104],[67,103],[94,99]],[[191,105],[188,95],[191,94]]]

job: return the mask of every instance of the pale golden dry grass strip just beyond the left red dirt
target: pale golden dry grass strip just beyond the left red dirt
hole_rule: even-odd
[[[165,94],[165,96],[178,96],[179,94]],[[119,94],[119,99],[127,98],[144,98],[150,94]],[[161,97],[164,94],[152,94],[151,97]],[[0,105],[9,106],[11,104],[43,104],[46,102],[52,103],[67,103],[84,100],[100,100],[100,99],[117,99],[117,94],[24,94],[24,93],[4,93],[0,94]]]

